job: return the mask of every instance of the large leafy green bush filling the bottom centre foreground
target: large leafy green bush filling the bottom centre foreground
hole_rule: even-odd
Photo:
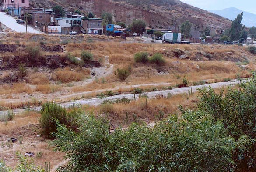
[[[94,115],[83,115],[79,133],[57,126],[55,151],[66,153],[68,162],[62,168],[74,172],[229,171],[231,152],[240,143],[224,134],[221,121],[201,112],[125,130]]]

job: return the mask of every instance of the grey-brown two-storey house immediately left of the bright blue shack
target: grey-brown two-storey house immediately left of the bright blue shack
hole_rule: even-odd
[[[83,20],[82,24],[86,34],[103,34],[102,19],[100,18],[89,18],[88,20]]]

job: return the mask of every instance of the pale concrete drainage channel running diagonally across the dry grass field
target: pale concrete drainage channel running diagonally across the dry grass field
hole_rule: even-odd
[[[184,87],[184,88],[174,88],[172,90],[164,90],[164,91],[153,91],[153,92],[147,92],[147,93],[143,93],[144,95],[147,95],[148,98],[154,98],[157,95],[163,95],[163,96],[167,96],[168,94],[182,94],[182,93],[188,93],[189,90],[193,90],[196,91],[198,88],[202,89],[202,88],[207,88],[207,87],[212,87],[212,88],[221,88],[221,87],[225,87],[228,85],[235,85],[235,84],[239,84],[241,81],[239,80],[232,80],[232,81],[228,81],[228,82],[217,82],[217,83],[213,83],[213,84],[204,84],[204,85],[197,85],[197,86],[190,86],[190,87]],[[62,103],[60,104],[62,107],[70,107],[70,106],[80,106],[80,105],[92,105],[92,106],[97,106],[103,103],[103,101],[105,100],[115,100],[117,98],[129,98],[129,99],[133,99],[134,97],[136,99],[138,99],[140,96],[140,94],[120,94],[120,95],[114,95],[111,97],[105,97],[105,98],[91,98],[91,99],[86,99],[86,100],[77,100],[77,101],[70,101],[70,102],[66,102],[66,103]],[[26,109],[14,109],[13,112],[15,114],[19,114],[24,112]],[[35,107],[35,108],[31,108],[31,110],[34,111],[40,111],[41,107]],[[0,115],[5,115],[7,114],[8,111],[0,111]]]

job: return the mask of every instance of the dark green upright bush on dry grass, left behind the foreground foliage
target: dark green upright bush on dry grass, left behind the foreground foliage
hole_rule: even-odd
[[[76,130],[77,125],[75,124],[78,114],[81,111],[74,109],[73,111],[67,113],[65,108],[62,108],[56,103],[47,102],[42,105],[41,118],[39,118],[39,123],[42,128],[42,134],[47,138],[52,138],[51,133],[56,132],[56,120],[60,124],[66,125],[72,130]]]

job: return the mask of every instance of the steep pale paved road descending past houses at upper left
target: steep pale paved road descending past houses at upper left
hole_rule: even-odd
[[[0,12],[0,22],[16,32],[26,32],[26,25],[18,24],[13,17],[6,13]],[[28,26],[28,33],[41,34],[41,32],[30,26]]]

